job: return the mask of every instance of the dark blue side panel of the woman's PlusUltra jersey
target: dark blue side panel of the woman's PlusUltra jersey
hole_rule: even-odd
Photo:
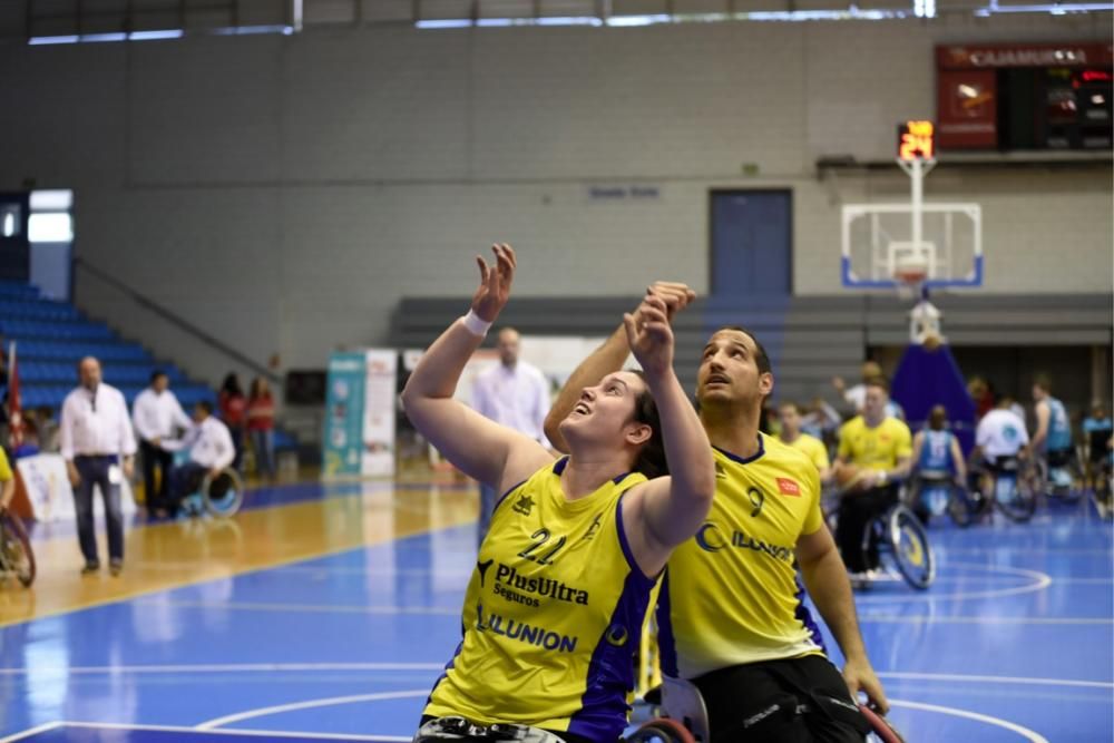
[[[634,564],[631,547],[623,530],[623,498],[615,506],[619,545],[632,563],[623,581],[623,593],[615,604],[610,622],[592,652],[587,686],[580,697],[580,710],[568,723],[568,732],[590,741],[616,741],[627,724],[627,695],[634,690],[632,657],[642,642],[642,625],[649,605],[654,581]]]

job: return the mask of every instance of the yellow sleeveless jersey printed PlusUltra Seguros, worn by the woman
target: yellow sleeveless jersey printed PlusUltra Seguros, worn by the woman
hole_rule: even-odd
[[[615,741],[627,724],[633,656],[658,581],[623,530],[631,472],[568,500],[568,458],[495,508],[465,595],[463,641],[426,705],[434,717],[529,724]]]

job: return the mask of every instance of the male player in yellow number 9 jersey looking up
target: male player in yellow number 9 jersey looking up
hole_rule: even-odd
[[[694,296],[674,283],[655,284],[649,293],[672,312]],[[627,354],[620,326],[573,373],[546,418],[557,448],[566,447],[558,424],[576,404],[577,390],[620,369]],[[869,726],[856,695],[866,692],[882,712],[886,695],[823,524],[817,468],[759,432],[772,390],[770,360],[750,332],[723,327],[712,334],[696,398],[715,457],[715,498],[696,537],[670,558],[658,603],[662,669],[700,688],[713,741],[862,741]],[[842,677],[803,604],[794,558],[847,658]]]

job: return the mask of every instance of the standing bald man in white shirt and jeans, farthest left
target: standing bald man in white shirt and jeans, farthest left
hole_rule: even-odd
[[[86,356],[78,364],[78,374],[80,387],[62,403],[60,439],[62,458],[74,486],[78,541],[85,556],[81,574],[100,569],[92,524],[92,489],[99,486],[108,526],[108,566],[117,576],[124,568],[121,467],[123,476],[130,478],[136,440],[124,395],[100,381],[100,362]]]

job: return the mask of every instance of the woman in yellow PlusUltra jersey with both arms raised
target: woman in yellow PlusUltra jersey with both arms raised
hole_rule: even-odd
[[[654,296],[624,317],[644,372],[608,374],[580,393],[560,424],[568,457],[555,462],[537,441],[455,401],[465,363],[510,293],[515,252],[492,251],[494,266],[477,260],[470,312],[429,348],[402,393],[410,420],[449,461],[506,493],[468,585],[463,639],[414,740],[475,737],[501,723],[539,729],[530,740],[548,731],[615,741],[657,576],[711,506],[712,450],[673,371],[673,331]],[[666,460],[671,475],[656,477]]]

